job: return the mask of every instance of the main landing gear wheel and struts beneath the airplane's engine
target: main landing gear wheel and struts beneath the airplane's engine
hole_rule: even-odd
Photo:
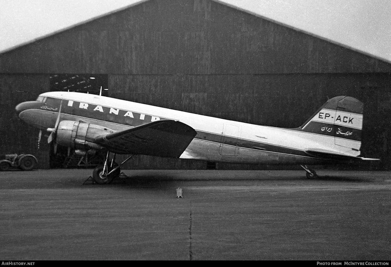
[[[117,178],[121,174],[121,166],[129,159],[133,158],[135,155],[129,156],[129,158],[125,159],[120,165],[115,162],[115,153],[113,158],[109,160],[110,152],[107,152],[106,160],[104,161],[104,165],[100,165],[96,167],[92,172],[92,178],[95,183],[99,185],[106,185],[111,183],[113,179]]]

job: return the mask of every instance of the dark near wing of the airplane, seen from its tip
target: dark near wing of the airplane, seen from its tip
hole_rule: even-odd
[[[179,158],[197,132],[175,120],[157,120],[95,138],[95,142],[118,154],[144,154]]]

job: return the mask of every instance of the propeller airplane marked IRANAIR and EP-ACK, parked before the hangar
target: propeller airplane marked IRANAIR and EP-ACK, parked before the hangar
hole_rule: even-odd
[[[307,165],[379,160],[360,156],[362,102],[329,99],[301,127],[278,128],[214,118],[77,92],[47,92],[16,106],[19,118],[50,133],[48,143],[84,155],[104,151],[93,170],[98,184],[110,183],[137,154],[212,162]],[[56,152],[55,152],[56,153]],[[112,155],[110,155],[112,153]],[[116,154],[130,154],[118,164]],[[111,158],[111,159],[110,159]]]

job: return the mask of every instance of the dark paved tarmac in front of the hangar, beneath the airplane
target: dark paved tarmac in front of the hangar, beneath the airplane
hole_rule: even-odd
[[[124,172],[0,172],[0,260],[391,260],[391,172]]]

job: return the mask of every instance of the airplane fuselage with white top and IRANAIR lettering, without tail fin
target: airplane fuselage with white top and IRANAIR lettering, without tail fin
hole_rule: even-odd
[[[125,100],[74,92],[48,92],[39,101],[16,107],[20,118],[42,130],[54,127],[61,105],[60,121],[70,120],[122,131],[154,120],[178,120],[197,135],[180,158],[244,164],[332,163],[305,153],[308,148],[357,156],[359,151],[337,145],[333,136],[235,122],[160,108]]]

